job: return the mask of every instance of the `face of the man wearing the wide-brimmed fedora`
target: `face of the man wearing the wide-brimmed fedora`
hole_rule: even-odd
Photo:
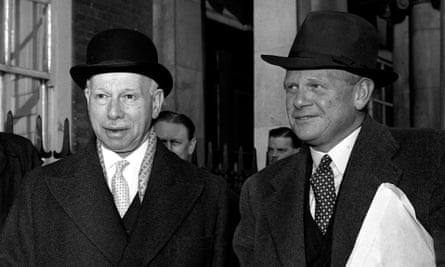
[[[300,140],[327,152],[361,124],[359,109],[369,101],[370,96],[363,97],[368,87],[351,84],[350,75],[341,70],[287,71],[287,113]]]

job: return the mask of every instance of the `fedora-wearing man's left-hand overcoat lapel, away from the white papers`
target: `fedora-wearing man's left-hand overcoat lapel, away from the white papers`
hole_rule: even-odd
[[[266,193],[264,213],[283,266],[305,266],[304,255],[304,188],[309,149],[301,151],[280,166],[271,178]],[[268,195],[267,195],[268,194]]]

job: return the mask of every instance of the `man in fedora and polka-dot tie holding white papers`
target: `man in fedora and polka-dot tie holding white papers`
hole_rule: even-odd
[[[288,118],[304,145],[243,185],[234,236],[241,266],[345,266],[382,184],[406,195],[434,242],[432,261],[444,263],[445,136],[389,129],[368,116],[374,88],[397,79],[376,67],[378,45],[363,18],[320,11],[309,13],[287,57],[262,56],[286,70]]]

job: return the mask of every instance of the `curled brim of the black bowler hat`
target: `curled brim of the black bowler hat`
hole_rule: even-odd
[[[107,62],[101,64],[80,64],[70,69],[70,74],[77,85],[83,90],[86,81],[95,74],[109,72],[131,72],[145,75],[155,80],[167,96],[173,87],[173,78],[170,72],[161,64],[135,63],[135,62]]]

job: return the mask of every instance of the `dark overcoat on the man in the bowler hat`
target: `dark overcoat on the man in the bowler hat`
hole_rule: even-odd
[[[128,237],[95,142],[31,172],[0,240],[0,266],[227,266],[237,221],[222,178],[158,142]]]

